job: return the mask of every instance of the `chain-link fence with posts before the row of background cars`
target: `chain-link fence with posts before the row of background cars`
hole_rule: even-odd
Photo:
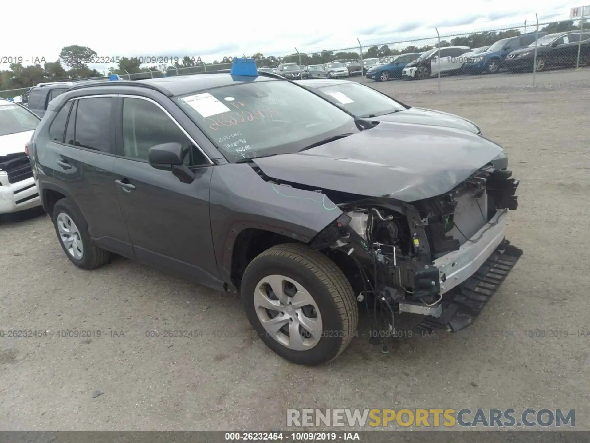
[[[583,69],[590,66],[590,16],[558,22],[526,21],[522,25],[488,28],[471,32],[440,34],[434,29],[430,37],[406,38],[401,41],[356,41],[335,50],[300,51],[275,57],[257,58],[257,66],[276,67],[282,63],[301,66],[304,77],[342,76],[362,82],[413,80],[424,84],[421,89],[440,92],[447,77],[468,79],[489,75],[490,84],[501,85],[510,74],[528,73],[516,81],[521,86],[536,86],[537,74],[548,70]],[[199,63],[198,66],[148,69],[138,73],[119,74],[122,79],[149,79],[231,69],[227,63]],[[335,67],[345,67],[336,73]],[[590,69],[588,70],[590,74]],[[516,77],[513,77],[516,78]],[[512,81],[512,80],[510,80]],[[1,97],[14,97],[29,88],[1,91]]]

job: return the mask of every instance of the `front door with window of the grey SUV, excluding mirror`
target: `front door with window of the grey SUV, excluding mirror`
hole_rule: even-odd
[[[136,259],[219,286],[209,219],[212,162],[159,103],[140,96],[118,100],[114,172]],[[170,142],[185,148],[192,183],[149,164],[149,149]]]

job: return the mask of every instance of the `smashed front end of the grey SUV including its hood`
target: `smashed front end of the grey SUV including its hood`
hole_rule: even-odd
[[[362,149],[350,137],[305,156],[254,162],[266,180],[323,194],[342,211],[309,246],[343,269],[358,302],[382,312],[372,337],[394,337],[402,312],[423,315],[422,331],[460,330],[522,253],[506,240],[519,182],[503,150],[481,136],[426,126],[379,131],[405,135],[403,147],[371,146],[373,129],[359,134]],[[448,146],[425,146],[424,132]]]

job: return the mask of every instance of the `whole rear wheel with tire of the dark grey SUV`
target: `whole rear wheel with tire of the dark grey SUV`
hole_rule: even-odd
[[[65,255],[78,268],[94,269],[109,260],[110,252],[93,242],[88,223],[67,198],[55,203],[52,219]]]

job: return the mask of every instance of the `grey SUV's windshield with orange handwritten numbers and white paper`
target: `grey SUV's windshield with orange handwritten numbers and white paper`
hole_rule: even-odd
[[[297,152],[324,138],[359,132],[352,116],[281,80],[238,83],[175,100],[233,161]]]

